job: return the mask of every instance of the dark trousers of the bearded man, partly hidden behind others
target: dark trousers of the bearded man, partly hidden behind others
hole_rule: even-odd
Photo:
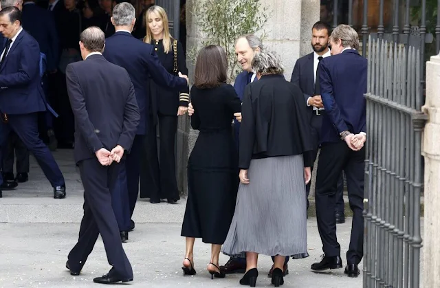
[[[322,111],[321,113],[325,113]],[[313,151],[313,162],[311,164],[311,172],[314,170],[314,163],[316,161],[316,157],[318,157],[318,151],[319,151],[319,142],[320,142],[320,133],[321,133],[321,126],[322,126],[322,115],[316,115],[315,111],[311,114],[310,119],[310,131],[311,131],[311,138],[314,142],[314,151]],[[320,160],[318,160],[319,162]],[[307,209],[309,209],[310,203],[309,203],[309,194],[310,194],[310,186],[311,181],[309,181],[309,184],[305,186],[305,191],[307,192]],[[336,206],[335,211],[342,211],[344,212],[344,177],[343,173],[341,173],[338,183],[333,188],[336,191]]]

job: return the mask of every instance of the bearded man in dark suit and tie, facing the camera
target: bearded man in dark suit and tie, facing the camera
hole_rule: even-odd
[[[315,145],[312,163],[315,163],[316,156],[318,155],[322,117],[325,113],[319,91],[319,77],[316,77],[316,72],[318,71],[318,64],[320,63],[320,60],[330,56],[330,32],[330,25],[325,22],[318,21],[313,25],[311,28],[311,47],[314,49],[314,52],[311,52],[310,54],[307,54],[306,56],[296,60],[294,71],[292,72],[292,78],[290,80],[290,82],[300,87],[301,91],[303,91],[304,99],[307,104],[311,128],[310,132]],[[318,80],[318,82],[316,82],[316,80]],[[313,169],[314,166],[311,166],[312,171]],[[305,186],[307,192],[307,208],[309,208],[308,198],[310,193],[310,184],[311,182]],[[344,179],[342,174],[338,179],[338,185],[335,187],[335,189],[337,201],[335,209],[336,223],[344,223]]]

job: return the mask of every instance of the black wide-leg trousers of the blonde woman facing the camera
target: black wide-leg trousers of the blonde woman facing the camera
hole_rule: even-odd
[[[142,167],[140,197],[153,201],[160,199],[179,200],[175,163],[175,137],[177,116],[159,114],[159,153],[157,153],[156,127],[148,128],[144,157],[146,165]]]

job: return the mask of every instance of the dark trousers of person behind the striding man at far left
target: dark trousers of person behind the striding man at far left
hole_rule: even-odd
[[[3,149],[3,173],[14,173],[14,160],[17,157],[17,173],[29,173],[29,150],[17,133],[10,131]]]

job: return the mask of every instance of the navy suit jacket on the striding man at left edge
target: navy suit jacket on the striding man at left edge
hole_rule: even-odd
[[[46,110],[39,63],[39,43],[22,30],[0,67],[1,112],[27,114]]]

